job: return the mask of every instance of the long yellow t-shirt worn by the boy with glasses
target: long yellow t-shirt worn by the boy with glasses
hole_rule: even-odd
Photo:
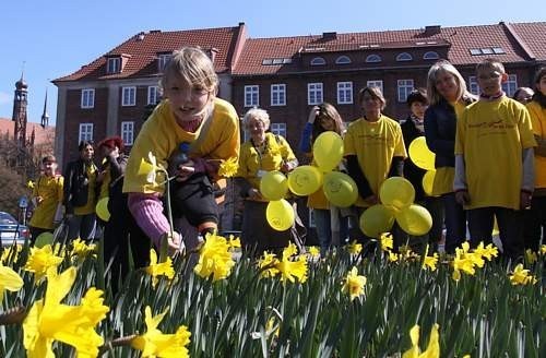
[[[525,107],[506,96],[468,107],[456,126],[455,155],[465,163],[471,204],[466,208],[520,208],[522,150],[533,147]]]

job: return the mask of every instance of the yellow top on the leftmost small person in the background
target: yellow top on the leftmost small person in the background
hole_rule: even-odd
[[[62,203],[62,176],[40,176],[33,190],[33,196],[41,196],[28,223],[33,227],[52,229],[57,206]]]

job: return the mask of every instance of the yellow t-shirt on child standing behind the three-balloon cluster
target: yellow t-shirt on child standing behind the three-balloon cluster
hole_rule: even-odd
[[[392,158],[406,157],[404,138],[400,124],[387,116],[376,122],[364,118],[353,121],[344,138],[344,155],[356,155],[358,164],[375,194],[389,175]],[[368,206],[358,198],[357,206]]]

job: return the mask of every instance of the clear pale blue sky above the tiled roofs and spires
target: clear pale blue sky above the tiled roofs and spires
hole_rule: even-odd
[[[0,4],[0,118],[12,117],[15,82],[28,84],[28,120],[39,122],[51,80],[70,74],[129,37],[151,29],[247,25],[248,36],[282,37],[546,21],[546,1],[478,0],[20,0]],[[541,16],[542,15],[542,16]]]

